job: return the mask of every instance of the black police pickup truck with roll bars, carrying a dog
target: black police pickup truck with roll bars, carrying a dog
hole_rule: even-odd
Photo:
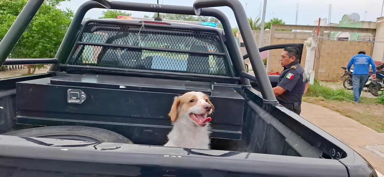
[[[0,43],[0,65],[52,64],[46,74],[0,80],[0,176],[376,177],[353,149],[292,111],[272,92],[237,0],[193,7],[85,2],[53,59],[6,59],[43,0],[29,0]],[[232,8],[255,72],[227,17]],[[218,18],[223,29],[166,21],[83,20],[92,8]],[[244,57],[245,58],[245,57]],[[173,98],[208,94],[211,149],[164,147]]]

